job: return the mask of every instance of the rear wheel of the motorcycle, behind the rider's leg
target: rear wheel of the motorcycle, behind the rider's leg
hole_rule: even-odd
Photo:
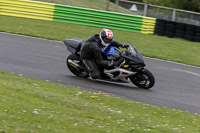
[[[70,54],[66,60],[67,67],[69,70],[76,75],[77,77],[88,78],[89,74],[85,72],[83,69],[75,68],[73,65],[70,65],[68,60],[72,60],[73,62],[77,63],[78,65],[82,65],[80,57],[74,54]]]

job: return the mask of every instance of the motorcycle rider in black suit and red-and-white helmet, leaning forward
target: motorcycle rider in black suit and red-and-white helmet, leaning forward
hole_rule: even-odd
[[[103,59],[102,48],[108,46],[122,48],[129,47],[129,45],[124,45],[113,40],[113,32],[109,29],[102,29],[100,34],[95,34],[89,37],[81,47],[80,57],[93,79],[101,78],[102,68],[119,66],[121,64],[120,61],[109,61]]]

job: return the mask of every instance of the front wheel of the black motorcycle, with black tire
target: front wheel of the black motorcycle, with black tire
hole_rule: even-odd
[[[130,76],[129,79],[134,85],[144,89],[150,89],[155,84],[153,74],[147,69],[137,72],[135,75]]]

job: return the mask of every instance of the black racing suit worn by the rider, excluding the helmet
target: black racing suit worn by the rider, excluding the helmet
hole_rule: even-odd
[[[118,41],[112,40],[111,46],[115,47],[123,47],[124,45]],[[112,65],[111,61],[104,60],[102,56],[102,48],[104,46],[101,44],[101,40],[99,39],[99,35],[95,34],[89,37],[84,45],[81,47],[81,59],[83,63],[86,65],[90,76],[93,79],[101,78],[101,71],[103,68],[108,68]]]

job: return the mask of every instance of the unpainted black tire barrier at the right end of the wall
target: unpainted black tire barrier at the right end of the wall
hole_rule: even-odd
[[[200,42],[200,26],[157,19],[155,35]]]

